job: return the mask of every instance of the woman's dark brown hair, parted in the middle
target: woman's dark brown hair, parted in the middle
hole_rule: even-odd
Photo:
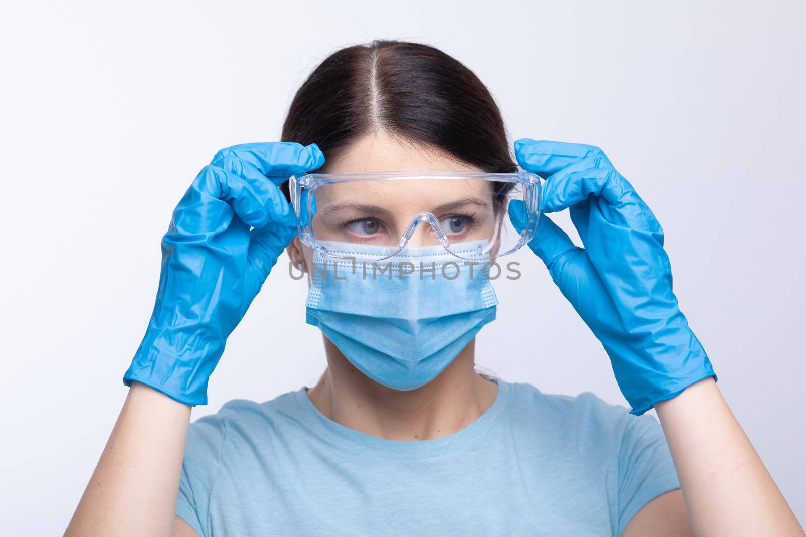
[[[483,171],[517,171],[488,89],[419,43],[373,41],[328,56],[294,95],[280,140],[316,143],[327,159],[379,128]]]

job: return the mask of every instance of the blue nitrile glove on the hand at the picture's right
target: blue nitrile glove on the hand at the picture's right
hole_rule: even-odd
[[[598,148],[573,143],[515,142],[526,170],[546,177],[538,232],[529,246],[605,346],[632,413],[671,399],[716,375],[671,291],[663,229]],[[545,213],[570,209],[584,249]],[[509,217],[523,229],[522,202]]]

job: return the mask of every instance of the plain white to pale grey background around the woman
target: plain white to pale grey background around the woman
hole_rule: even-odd
[[[193,176],[222,147],[278,138],[306,74],[376,38],[467,64],[513,139],[605,149],[663,224],[683,312],[806,522],[806,4],[384,3],[4,7],[2,532],[64,531],[126,397],[160,236]],[[496,283],[480,366],[624,403],[542,263],[528,250],[518,260],[524,277]],[[305,292],[284,256],[194,417],[317,380],[324,357]]]

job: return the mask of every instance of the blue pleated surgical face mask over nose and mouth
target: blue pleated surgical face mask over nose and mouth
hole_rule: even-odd
[[[314,251],[306,321],[318,326],[362,373],[396,390],[433,380],[496,316],[488,261],[455,257],[442,246],[404,248],[330,242]],[[478,251],[475,243],[467,251]]]

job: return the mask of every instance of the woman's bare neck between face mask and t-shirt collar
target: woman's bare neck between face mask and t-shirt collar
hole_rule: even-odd
[[[353,366],[325,338],[327,370],[308,396],[322,414],[345,427],[387,440],[431,440],[467,427],[498,393],[473,369],[474,341],[425,386],[393,390]]]

